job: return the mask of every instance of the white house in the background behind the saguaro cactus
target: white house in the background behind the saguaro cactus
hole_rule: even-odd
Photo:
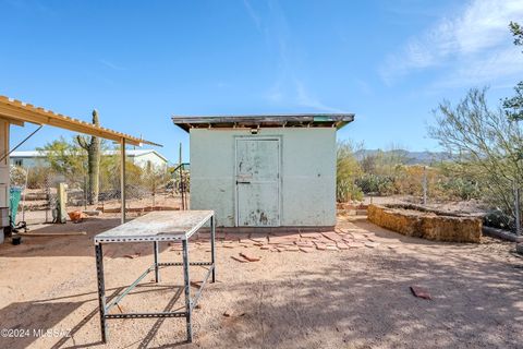
[[[118,156],[120,151],[105,151],[105,156]],[[125,152],[127,159],[136,166],[146,168],[150,164],[155,168],[168,166],[167,158],[153,149],[127,149]],[[39,151],[13,152],[10,154],[10,164],[21,167],[47,166],[46,153]]]

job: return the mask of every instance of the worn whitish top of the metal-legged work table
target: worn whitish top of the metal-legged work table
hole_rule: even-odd
[[[214,210],[151,212],[95,236],[95,244],[187,240],[214,215]]]

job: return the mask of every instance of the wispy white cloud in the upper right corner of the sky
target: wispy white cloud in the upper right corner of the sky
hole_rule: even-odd
[[[461,12],[439,20],[390,55],[380,69],[387,83],[412,72],[443,68],[452,85],[490,83],[523,72],[512,47],[510,21],[523,19],[522,0],[473,0]],[[439,82],[439,84],[445,84]]]

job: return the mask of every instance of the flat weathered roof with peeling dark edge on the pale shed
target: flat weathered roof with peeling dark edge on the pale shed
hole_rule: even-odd
[[[301,113],[269,116],[173,116],[172,122],[188,132],[190,129],[210,128],[343,128],[354,121],[353,113]]]

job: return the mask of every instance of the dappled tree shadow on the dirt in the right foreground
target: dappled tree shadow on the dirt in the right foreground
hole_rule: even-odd
[[[361,263],[352,256],[318,272],[236,286],[239,316],[222,318],[216,338],[202,339],[251,348],[521,348],[523,278],[514,265],[369,257],[366,268],[352,268]],[[413,297],[412,285],[428,288],[433,300]]]

